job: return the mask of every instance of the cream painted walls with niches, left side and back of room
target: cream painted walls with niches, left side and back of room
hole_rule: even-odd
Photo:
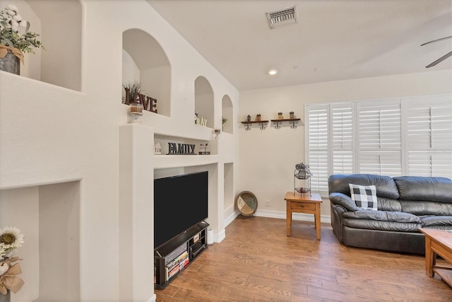
[[[451,59],[427,71],[430,62],[418,62],[422,72],[290,86],[272,86],[264,70],[267,88],[238,88],[160,16],[164,2],[0,0],[1,9],[18,8],[45,47],[25,54],[20,75],[0,72],[0,226],[16,226],[25,235],[18,249],[25,285],[11,301],[155,301],[149,286],[154,178],[208,171],[215,248],[238,215],[239,192],[256,194],[256,216],[284,225],[284,194],[293,190],[295,165],[307,163],[305,128],[287,123],[275,129],[268,122],[266,129],[253,124],[246,131],[247,115],[270,121],[293,111],[306,125],[307,104],[452,93]],[[422,11],[429,1],[416,2],[415,11]],[[448,1],[434,2],[448,7]],[[270,30],[266,8],[258,14]],[[451,8],[443,14],[450,17]],[[441,22],[438,37],[451,35],[450,18]],[[230,60],[227,53],[222,57]],[[143,110],[141,123],[132,123],[122,86],[137,70],[158,113]],[[206,124],[195,124],[195,113]],[[156,141],[161,156],[153,154]],[[165,155],[169,143],[194,144],[196,153],[208,144],[210,155]],[[326,196],[321,222],[331,223]]]

